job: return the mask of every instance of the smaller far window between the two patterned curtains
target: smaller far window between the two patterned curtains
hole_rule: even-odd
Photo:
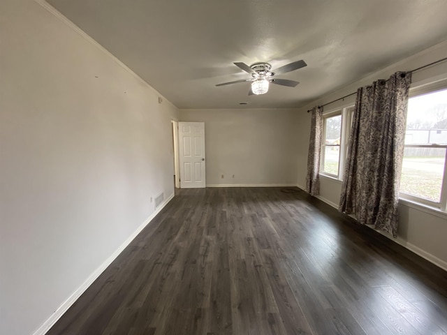
[[[353,106],[323,114],[320,173],[342,180]]]

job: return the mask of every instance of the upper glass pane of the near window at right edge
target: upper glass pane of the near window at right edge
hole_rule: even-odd
[[[409,99],[405,144],[447,144],[447,89]]]

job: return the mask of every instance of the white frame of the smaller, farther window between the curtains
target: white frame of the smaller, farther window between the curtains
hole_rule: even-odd
[[[347,105],[328,110],[328,112],[323,112],[323,134],[321,141],[321,159],[320,159],[320,175],[328,177],[331,179],[336,179],[338,181],[343,180],[344,167],[346,165],[346,156],[348,154],[348,144],[349,144],[349,133],[351,133],[351,125],[353,120],[353,112],[355,105],[354,103],[349,103]],[[340,131],[340,144],[325,144],[326,137],[326,120],[330,117],[337,117],[341,115],[342,129]],[[323,171],[324,166],[324,156],[325,147],[339,147],[339,158],[338,158],[338,173],[332,174]]]

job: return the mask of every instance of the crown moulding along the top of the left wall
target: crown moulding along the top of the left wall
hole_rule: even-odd
[[[59,10],[57,10],[56,8],[54,8],[53,6],[50,5],[50,3],[47,3],[47,1],[45,0],[34,0],[36,1],[36,3],[38,3],[39,5],[41,5],[43,8],[45,8],[48,12],[50,12],[52,15],[54,15],[55,17],[57,17],[59,20],[61,20],[61,22],[63,22],[64,24],[66,24],[66,26],[70,27],[71,29],[73,29],[73,31],[75,31],[76,33],[78,33],[82,38],[85,38],[85,40],[87,40],[89,43],[91,43],[92,45],[94,45],[95,47],[97,47],[99,50],[101,50],[102,52],[104,52],[105,54],[108,55],[108,57],[110,57],[113,61],[115,61],[119,66],[121,66],[122,68],[124,68],[124,70],[126,70],[127,72],[129,72],[131,75],[133,75],[133,77],[135,77],[136,80],[138,80],[140,83],[144,84],[146,87],[148,87],[151,91],[153,91],[156,96],[159,96],[163,99],[163,103],[168,103],[169,105],[171,105],[172,107],[174,107],[175,109],[178,110],[177,106],[175,106],[173,103],[171,103],[167,98],[165,98],[164,96],[162,96],[160,94],[159,91],[156,91],[156,89],[154,89],[154,87],[152,87],[151,85],[149,85],[144,79],[142,79],[142,77],[140,77],[139,75],[137,75],[135,72],[133,72],[133,70],[131,70],[131,68],[129,68],[129,66],[126,66],[126,64],[124,64],[122,61],[120,61],[119,59],[117,59],[117,57],[115,57],[112,53],[110,53],[107,49],[105,49],[105,47],[103,47],[101,44],[99,44],[98,42],[96,42],[96,40],[94,40],[93,38],[91,38],[87,33],[85,33],[85,31],[83,31],[82,29],[80,29],[80,27],[78,27],[76,24],[74,24],[73,22],[71,22],[70,20],[68,20],[68,18],[62,14],[61,12],[59,12]]]

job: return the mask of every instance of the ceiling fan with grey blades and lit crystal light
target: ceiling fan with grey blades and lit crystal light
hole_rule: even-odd
[[[222,84],[217,84],[216,86],[224,86],[229,84],[236,84],[237,82],[251,82],[251,89],[249,91],[249,96],[252,94],[266,94],[268,92],[268,87],[270,82],[277,85],[295,87],[300,84],[299,82],[295,82],[295,80],[288,79],[277,79],[274,78],[274,75],[279,75],[281,73],[291,72],[293,70],[298,70],[298,68],[304,68],[307,66],[306,62],[303,60],[293,61],[290,64],[286,64],[277,68],[276,70],[270,71],[270,64],[268,63],[255,63],[251,66],[248,66],[245,63],[238,62],[234,63],[238,68],[242,68],[245,72],[251,75],[251,78],[245,80],[235,80],[234,82],[223,82]]]

